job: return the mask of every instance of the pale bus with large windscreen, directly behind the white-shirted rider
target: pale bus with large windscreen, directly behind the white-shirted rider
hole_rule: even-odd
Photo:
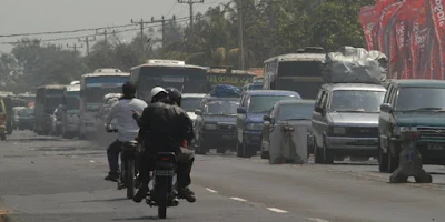
[[[130,73],[119,69],[98,69],[80,79],[80,135],[95,135],[96,115],[103,95],[122,92],[122,84],[130,81]]]

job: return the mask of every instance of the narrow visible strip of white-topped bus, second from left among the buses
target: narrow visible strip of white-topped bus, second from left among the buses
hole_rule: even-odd
[[[80,82],[67,85],[65,98],[62,137],[73,138],[80,132]]]

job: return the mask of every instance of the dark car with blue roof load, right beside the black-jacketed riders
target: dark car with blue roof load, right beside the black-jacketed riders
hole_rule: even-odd
[[[224,153],[236,144],[238,98],[206,98],[196,110],[195,152],[206,154],[210,148]]]

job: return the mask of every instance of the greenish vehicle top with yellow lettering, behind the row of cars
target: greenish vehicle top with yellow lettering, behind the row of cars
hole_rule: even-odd
[[[233,70],[230,67],[209,67],[207,69],[207,89],[216,84],[231,84],[238,88],[253,82],[254,73],[244,70]]]

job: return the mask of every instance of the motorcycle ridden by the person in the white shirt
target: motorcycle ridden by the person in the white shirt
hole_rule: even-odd
[[[108,132],[117,133],[118,130],[110,130]],[[136,160],[139,145],[136,141],[123,142],[122,150],[120,152],[120,175],[118,180],[118,190],[127,189],[127,198],[132,199],[135,196],[136,189]]]

